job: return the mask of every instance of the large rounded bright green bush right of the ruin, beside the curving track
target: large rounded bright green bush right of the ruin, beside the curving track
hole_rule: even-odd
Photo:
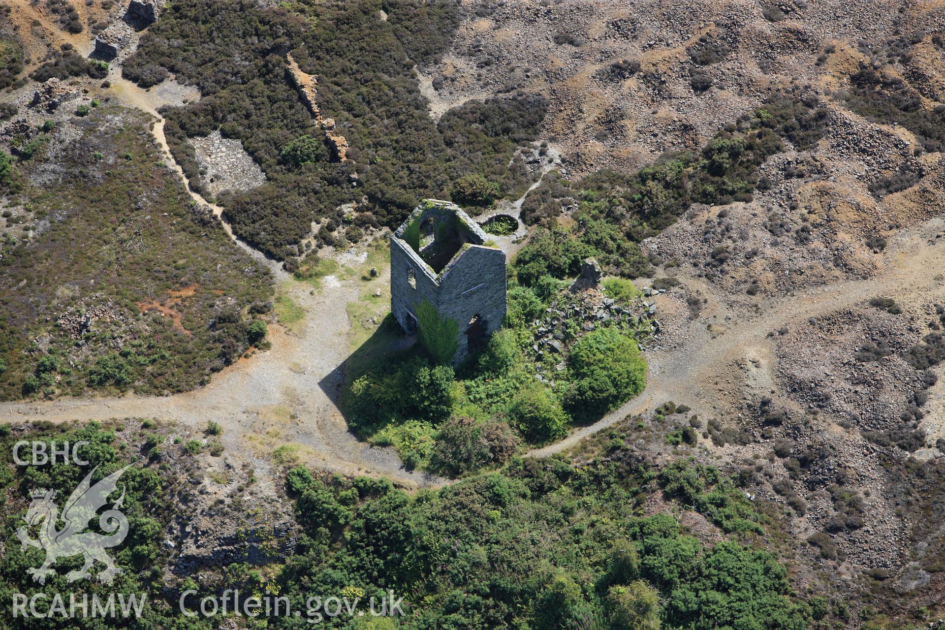
[[[646,360],[633,339],[612,328],[581,337],[568,358],[571,385],[565,400],[580,421],[602,417],[643,391]]]

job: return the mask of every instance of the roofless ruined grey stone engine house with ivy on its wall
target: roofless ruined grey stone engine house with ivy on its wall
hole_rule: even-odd
[[[506,254],[449,201],[426,199],[390,237],[390,308],[416,332],[423,299],[459,323],[455,363],[480,349],[506,318]]]

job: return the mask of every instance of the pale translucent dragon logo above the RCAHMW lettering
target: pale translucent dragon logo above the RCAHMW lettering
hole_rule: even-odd
[[[115,470],[105,479],[91,485],[92,475],[98,467],[93,468],[65,502],[62,516],[59,514],[59,505],[53,501],[56,496],[55,490],[43,489],[31,493],[33,502],[26,511],[24,520],[27,527],[40,525],[39,540],[30,538],[26,527],[18,529],[16,537],[20,539],[23,549],[29,545],[46,552],[46,559],[40,568],[27,570],[33,576],[33,581],[45,584],[47,575],[56,574],[56,570],[50,567],[59,558],[81,553],[85,558],[85,564],[79,570],[66,573],[66,580],[76,582],[89,577],[89,570],[92,569],[95,560],[98,560],[105,565],[105,570],[98,574],[98,581],[102,584],[112,584],[114,576],[122,570],[115,567],[112,557],[105,553],[105,550],[120,545],[125,540],[125,536],[128,536],[128,519],[117,509],[125,502],[125,489],[122,488],[121,497],[112,503],[112,509],[106,510],[98,517],[98,526],[108,536],[82,530],[90,526],[99,508],[108,502],[109,495],[114,492],[115,485],[118,483],[118,478],[128,470],[129,466]],[[60,519],[65,522],[65,525],[57,530],[56,523]]]

